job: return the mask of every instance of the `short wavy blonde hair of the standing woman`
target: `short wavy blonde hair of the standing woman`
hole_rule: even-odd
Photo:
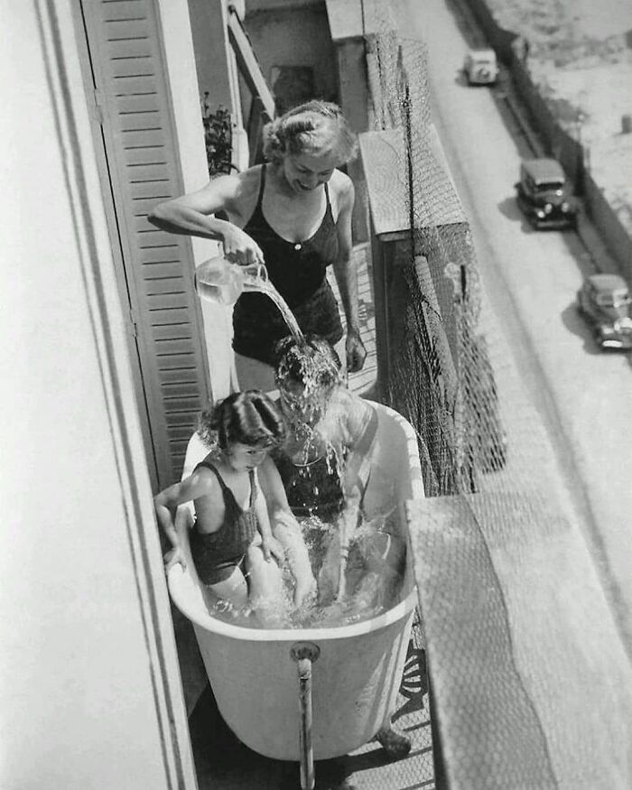
[[[290,153],[335,153],[339,164],[358,152],[358,139],[337,104],[313,99],[288,110],[264,128],[264,156],[279,163]]]

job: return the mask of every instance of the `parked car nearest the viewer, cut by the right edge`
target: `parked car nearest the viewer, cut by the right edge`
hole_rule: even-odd
[[[577,293],[577,306],[600,349],[632,349],[630,292],[619,274],[590,274]]]

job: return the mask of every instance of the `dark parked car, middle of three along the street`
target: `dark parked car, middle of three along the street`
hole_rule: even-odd
[[[518,206],[535,228],[567,228],[577,224],[579,201],[572,183],[555,159],[527,159],[516,183]]]

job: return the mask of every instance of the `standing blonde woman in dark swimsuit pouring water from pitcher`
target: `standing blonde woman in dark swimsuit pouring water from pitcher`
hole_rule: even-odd
[[[354,189],[339,167],[355,155],[356,137],[337,105],[317,100],[276,118],[264,135],[265,164],[219,176],[200,191],[162,203],[149,220],[172,233],[221,241],[233,263],[265,263],[302,331],[329,340],[355,372],[367,352],[351,261]],[[220,211],[228,219],[210,216]],[[326,277],[329,265],[339,286],[346,338]],[[239,387],[273,390],[274,345],[289,333],[274,302],[263,293],[242,293],[233,330]]]

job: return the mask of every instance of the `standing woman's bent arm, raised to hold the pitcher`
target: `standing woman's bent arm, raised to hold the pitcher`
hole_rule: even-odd
[[[246,173],[218,176],[197,192],[159,203],[147,218],[169,233],[221,241],[224,255],[233,263],[264,263],[261,248],[253,238],[234,222],[209,216],[218,211],[240,216],[240,197],[247,191],[248,178]]]

